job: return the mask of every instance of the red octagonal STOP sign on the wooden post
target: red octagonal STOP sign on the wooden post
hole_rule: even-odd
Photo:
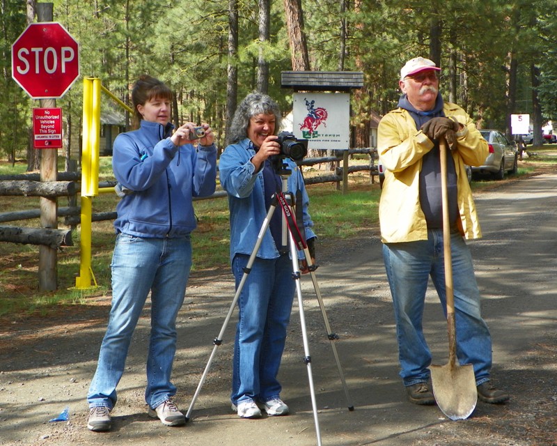
[[[79,77],[79,45],[59,23],[32,23],[12,45],[12,77],[33,99],[61,98]]]

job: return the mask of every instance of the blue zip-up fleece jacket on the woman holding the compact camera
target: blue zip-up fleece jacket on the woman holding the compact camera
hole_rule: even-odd
[[[118,203],[116,232],[145,238],[178,238],[196,228],[192,197],[213,194],[217,148],[178,148],[173,125],[141,121],[139,130],[118,134],[112,169],[125,195]]]

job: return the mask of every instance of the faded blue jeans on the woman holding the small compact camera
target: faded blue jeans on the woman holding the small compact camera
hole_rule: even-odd
[[[116,405],[132,334],[151,291],[151,332],[145,401],[156,408],[173,397],[175,321],[185,297],[191,268],[186,238],[139,238],[120,233],[112,256],[112,307],[100,347],[97,371],[87,396],[89,407]]]

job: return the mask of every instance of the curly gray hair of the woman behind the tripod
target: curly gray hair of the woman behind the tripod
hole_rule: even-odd
[[[269,95],[254,91],[249,93],[236,109],[232,124],[230,125],[230,137],[228,139],[230,144],[237,143],[247,137],[249,120],[251,116],[257,116],[258,114],[274,114],[274,134],[278,133],[282,120],[278,104]]]

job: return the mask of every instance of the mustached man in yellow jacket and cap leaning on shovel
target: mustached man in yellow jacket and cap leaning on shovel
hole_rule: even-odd
[[[502,403],[508,394],[489,380],[492,341],[480,315],[480,292],[464,238],[481,237],[465,165],[481,165],[487,141],[464,110],[444,102],[438,68],[423,57],[400,70],[398,108],[379,123],[378,151],[385,181],[379,202],[383,256],[398,337],[400,376],[412,403],[434,404],[431,353],[422,317],[429,277],[446,308],[439,139],[450,146],[447,185],[457,332],[457,357],[472,364],[478,398]]]

